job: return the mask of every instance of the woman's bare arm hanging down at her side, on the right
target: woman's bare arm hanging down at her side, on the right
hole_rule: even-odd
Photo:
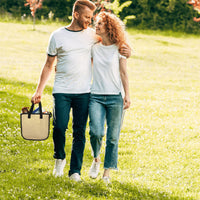
[[[129,82],[128,82],[128,73],[127,73],[127,61],[125,58],[119,60],[120,65],[120,77],[124,87],[125,97],[124,97],[124,109],[127,109],[131,105],[130,95],[129,95]]]

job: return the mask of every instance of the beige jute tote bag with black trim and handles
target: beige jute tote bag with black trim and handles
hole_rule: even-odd
[[[39,103],[39,113],[33,113],[34,104],[28,113],[20,114],[21,135],[26,140],[46,140],[49,137],[51,113],[42,113]]]

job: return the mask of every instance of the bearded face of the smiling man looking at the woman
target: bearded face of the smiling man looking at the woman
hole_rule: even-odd
[[[81,12],[78,13],[77,23],[82,29],[88,28],[91,24],[91,20],[93,17],[93,11],[88,7],[85,7]]]

